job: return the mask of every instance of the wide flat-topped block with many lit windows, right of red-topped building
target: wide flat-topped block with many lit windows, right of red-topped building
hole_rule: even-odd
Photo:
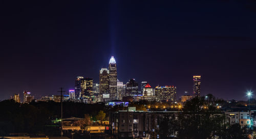
[[[155,89],[156,97],[158,101],[171,101],[176,102],[176,87],[174,86],[157,86]]]

